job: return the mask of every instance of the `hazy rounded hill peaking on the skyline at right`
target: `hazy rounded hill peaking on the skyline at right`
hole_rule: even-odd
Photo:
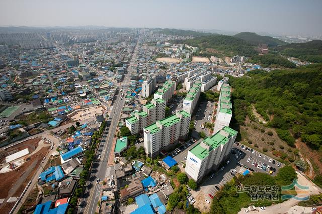
[[[279,40],[279,39],[275,39],[273,37],[269,37],[269,36],[261,36],[258,35],[256,33],[252,33],[252,32],[241,32],[239,34],[234,35],[234,37],[239,38],[241,40],[247,41],[255,46],[259,45],[259,44],[267,44],[270,47],[276,47],[279,45],[286,45],[287,43]]]

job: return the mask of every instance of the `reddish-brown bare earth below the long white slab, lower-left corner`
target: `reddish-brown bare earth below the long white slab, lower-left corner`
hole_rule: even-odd
[[[25,162],[16,170],[0,174],[0,198],[20,196],[27,183],[34,176],[49,148],[49,146],[42,148],[39,152],[32,155],[29,161]],[[9,204],[4,202],[0,205],[0,213],[9,213],[13,205],[14,203]]]

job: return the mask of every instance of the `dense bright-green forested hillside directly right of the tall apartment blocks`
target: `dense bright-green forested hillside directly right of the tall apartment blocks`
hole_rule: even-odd
[[[258,113],[276,129],[290,146],[295,139],[314,149],[322,145],[322,64],[290,70],[248,72],[249,77],[231,77],[234,91],[234,119],[243,124],[247,107],[254,104]]]

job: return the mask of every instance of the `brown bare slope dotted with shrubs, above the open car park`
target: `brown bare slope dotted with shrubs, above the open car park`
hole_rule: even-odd
[[[260,152],[263,152],[263,148],[266,148],[268,151],[264,153],[271,157],[281,157],[286,154],[287,157],[295,158],[292,153],[294,149],[282,141],[274,129],[267,128],[258,122],[250,121],[248,117],[245,120],[245,124],[246,126],[240,126],[243,144],[255,147]],[[273,133],[272,136],[268,135],[269,131]]]

